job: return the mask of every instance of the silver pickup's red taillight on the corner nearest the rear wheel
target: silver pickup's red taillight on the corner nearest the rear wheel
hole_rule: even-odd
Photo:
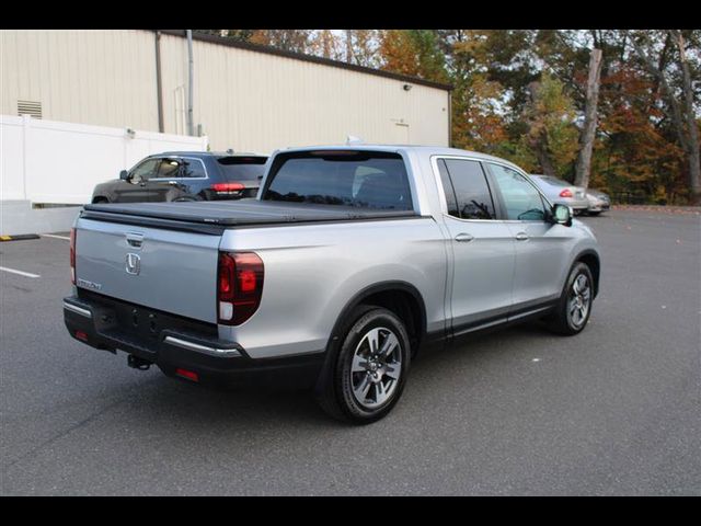
[[[263,260],[254,252],[220,252],[217,272],[219,323],[240,325],[257,310],[263,295]]]

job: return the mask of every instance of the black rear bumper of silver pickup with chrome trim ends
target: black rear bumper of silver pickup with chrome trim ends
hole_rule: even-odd
[[[136,311],[135,319],[145,320],[146,327],[125,330],[125,309],[129,315]],[[159,322],[150,325],[153,319]],[[216,325],[203,323],[198,330],[192,320],[179,322],[165,312],[111,298],[65,298],[64,321],[69,334],[82,343],[115,354],[124,351],[156,364],[168,376],[182,377],[177,369],[196,373],[203,385],[310,388],[323,364],[323,353],[254,359],[238,343],[219,340]]]

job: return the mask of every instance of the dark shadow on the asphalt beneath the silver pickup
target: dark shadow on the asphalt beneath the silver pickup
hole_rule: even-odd
[[[541,352],[553,345],[559,336],[537,324],[522,324],[498,332],[478,334],[460,345],[432,350],[420,355],[412,366],[407,391],[411,396],[445,398],[450,384],[470,384],[478,378],[485,361],[520,359],[519,353]],[[509,354],[514,357],[509,358]],[[163,419],[177,422],[181,431],[209,434],[212,430],[233,434],[275,427],[280,433],[303,427],[343,430],[348,424],[327,416],[314,402],[309,391],[244,389],[223,390],[192,385],[185,380],[166,378],[158,373],[148,382],[148,392],[134,401],[137,414],[150,425]],[[149,375],[150,376],[150,375]],[[451,381],[445,382],[445,379]],[[438,392],[436,392],[438,391]],[[404,393],[406,398],[407,392]],[[412,411],[403,400],[397,409]],[[388,419],[386,419],[388,420]],[[372,427],[372,426],[371,426]]]

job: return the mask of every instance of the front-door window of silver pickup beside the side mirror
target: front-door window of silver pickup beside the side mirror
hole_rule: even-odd
[[[542,221],[545,210],[540,193],[516,170],[501,164],[489,163],[490,171],[506,207],[506,219],[520,221]]]

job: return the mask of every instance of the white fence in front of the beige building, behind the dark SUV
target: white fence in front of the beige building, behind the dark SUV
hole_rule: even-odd
[[[0,116],[0,199],[89,203],[95,184],[139,159],[169,150],[207,149],[207,137]]]

